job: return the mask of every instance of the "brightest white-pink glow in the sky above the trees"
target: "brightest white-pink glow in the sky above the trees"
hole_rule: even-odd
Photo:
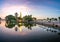
[[[27,15],[27,12],[29,12],[28,10],[30,11],[30,9],[28,7],[26,7],[26,6],[19,6],[19,5],[16,5],[16,6],[5,6],[2,9],[2,14],[15,15],[15,12],[17,12],[18,14],[20,14],[20,12],[22,12],[22,15],[25,16],[25,15]]]

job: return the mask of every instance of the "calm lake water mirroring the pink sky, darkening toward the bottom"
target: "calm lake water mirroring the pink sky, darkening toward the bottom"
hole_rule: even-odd
[[[58,42],[60,29],[38,24],[22,24],[9,28],[5,21],[0,24],[0,42]]]

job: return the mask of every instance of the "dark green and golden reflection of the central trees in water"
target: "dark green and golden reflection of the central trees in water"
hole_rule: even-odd
[[[22,26],[25,26],[28,29],[32,30],[31,27],[36,26],[36,23],[30,23],[30,22],[27,23],[26,22],[26,23],[18,23],[18,24],[15,24],[14,22],[6,22],[5,23],[5,26],[8,27],[8,28],[15,27],[15,31],[17,31],[18,28],[20,28],[20,31],[22,31]]]

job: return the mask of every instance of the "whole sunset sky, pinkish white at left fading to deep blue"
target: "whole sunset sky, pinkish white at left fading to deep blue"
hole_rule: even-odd
[[[0,0],[0,17],[33,15],[38,19],[60,16],[60,0]]]

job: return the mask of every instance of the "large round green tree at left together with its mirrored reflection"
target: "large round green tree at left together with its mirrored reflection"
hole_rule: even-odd
[[[12,16],[12,15],[6,16],[6,17],[5,17],[5,20],[6,20],[6,24],[5,24],[6,27],[12,28],[12,27],[14,27],[15,24],[16,24],[16,19],[15,19],[15,17]]]

